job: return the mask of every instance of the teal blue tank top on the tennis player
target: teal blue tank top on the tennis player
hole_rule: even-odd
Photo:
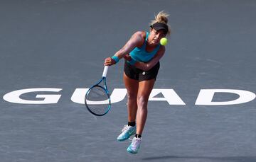
[[[160,48],[160,45],[157,45],[157,47],[153,51],[146,52],[146,41],[148,40],[148,37],[149,33],[146,32],[146,39],[142,47],[135,47],[134,50],[129,53],[132,59],[136,60],[137,62],[149,62]]]

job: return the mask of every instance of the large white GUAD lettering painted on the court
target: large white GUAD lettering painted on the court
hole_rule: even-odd
[[[9,103],[17,104],[56,104],[61,98],[62,88],[26,88],[6,93],[3,97]],[[76,88],[70,100],[74,103],[84,104],[85,93],[88,88]],[[22,98],[22,95],[28,93],[43,93],[37,94],[35,98]],[[53,94],[54,93],[54,94]],[[236,94],[238,98],[233,100],[214,101],[213,96],[218,93]],[[161,94],[161,95],[160,95]],[[118,103],[124,100],[127,95],[125,88],[114,88],[110,99],[111,103]],[[159,97],[160,96],[160,97]],[[201,89],[195,101],[195,105],[237,105],[248,103],[255,100],[255,93],[251,91],[238,90],[238,89]],[[149,100],[163,101],[169,105],[186,105],[180,96],[169,88],[154,88],[151,91]]]

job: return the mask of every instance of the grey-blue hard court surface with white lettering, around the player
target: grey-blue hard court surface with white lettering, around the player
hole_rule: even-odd
[[[124,61],[110,66],[112,108],[85,91],[137,30],[169,13],[171,37],[139,154],[127,124]],[[256,161],[256,1],[0,1],[1,162]]]

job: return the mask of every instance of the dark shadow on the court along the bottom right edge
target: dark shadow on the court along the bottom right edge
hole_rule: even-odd
[[[152,156],[142,158],[144,161],[161,161],[161,160],[175,160],[175,159],[201,159],[210,161],[226,161],[226,162],[255,162],[256,156],[229,156],[229,157],[214,157],[214,156]]]

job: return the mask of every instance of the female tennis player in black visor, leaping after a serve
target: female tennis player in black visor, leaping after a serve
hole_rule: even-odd
[[[137,154],[146,122],[147,103],[159,71],[159,60],[165,47],[160,40],[170,35],[169,15],[161,11],[151,21],[149,32],[137,31],[113,57],[105,59],[105,66],[117,64],[124,58],[124,86],[127,88],[128,125],[124,125],[118,141],[129,139],[135,134],[127,151]]]

